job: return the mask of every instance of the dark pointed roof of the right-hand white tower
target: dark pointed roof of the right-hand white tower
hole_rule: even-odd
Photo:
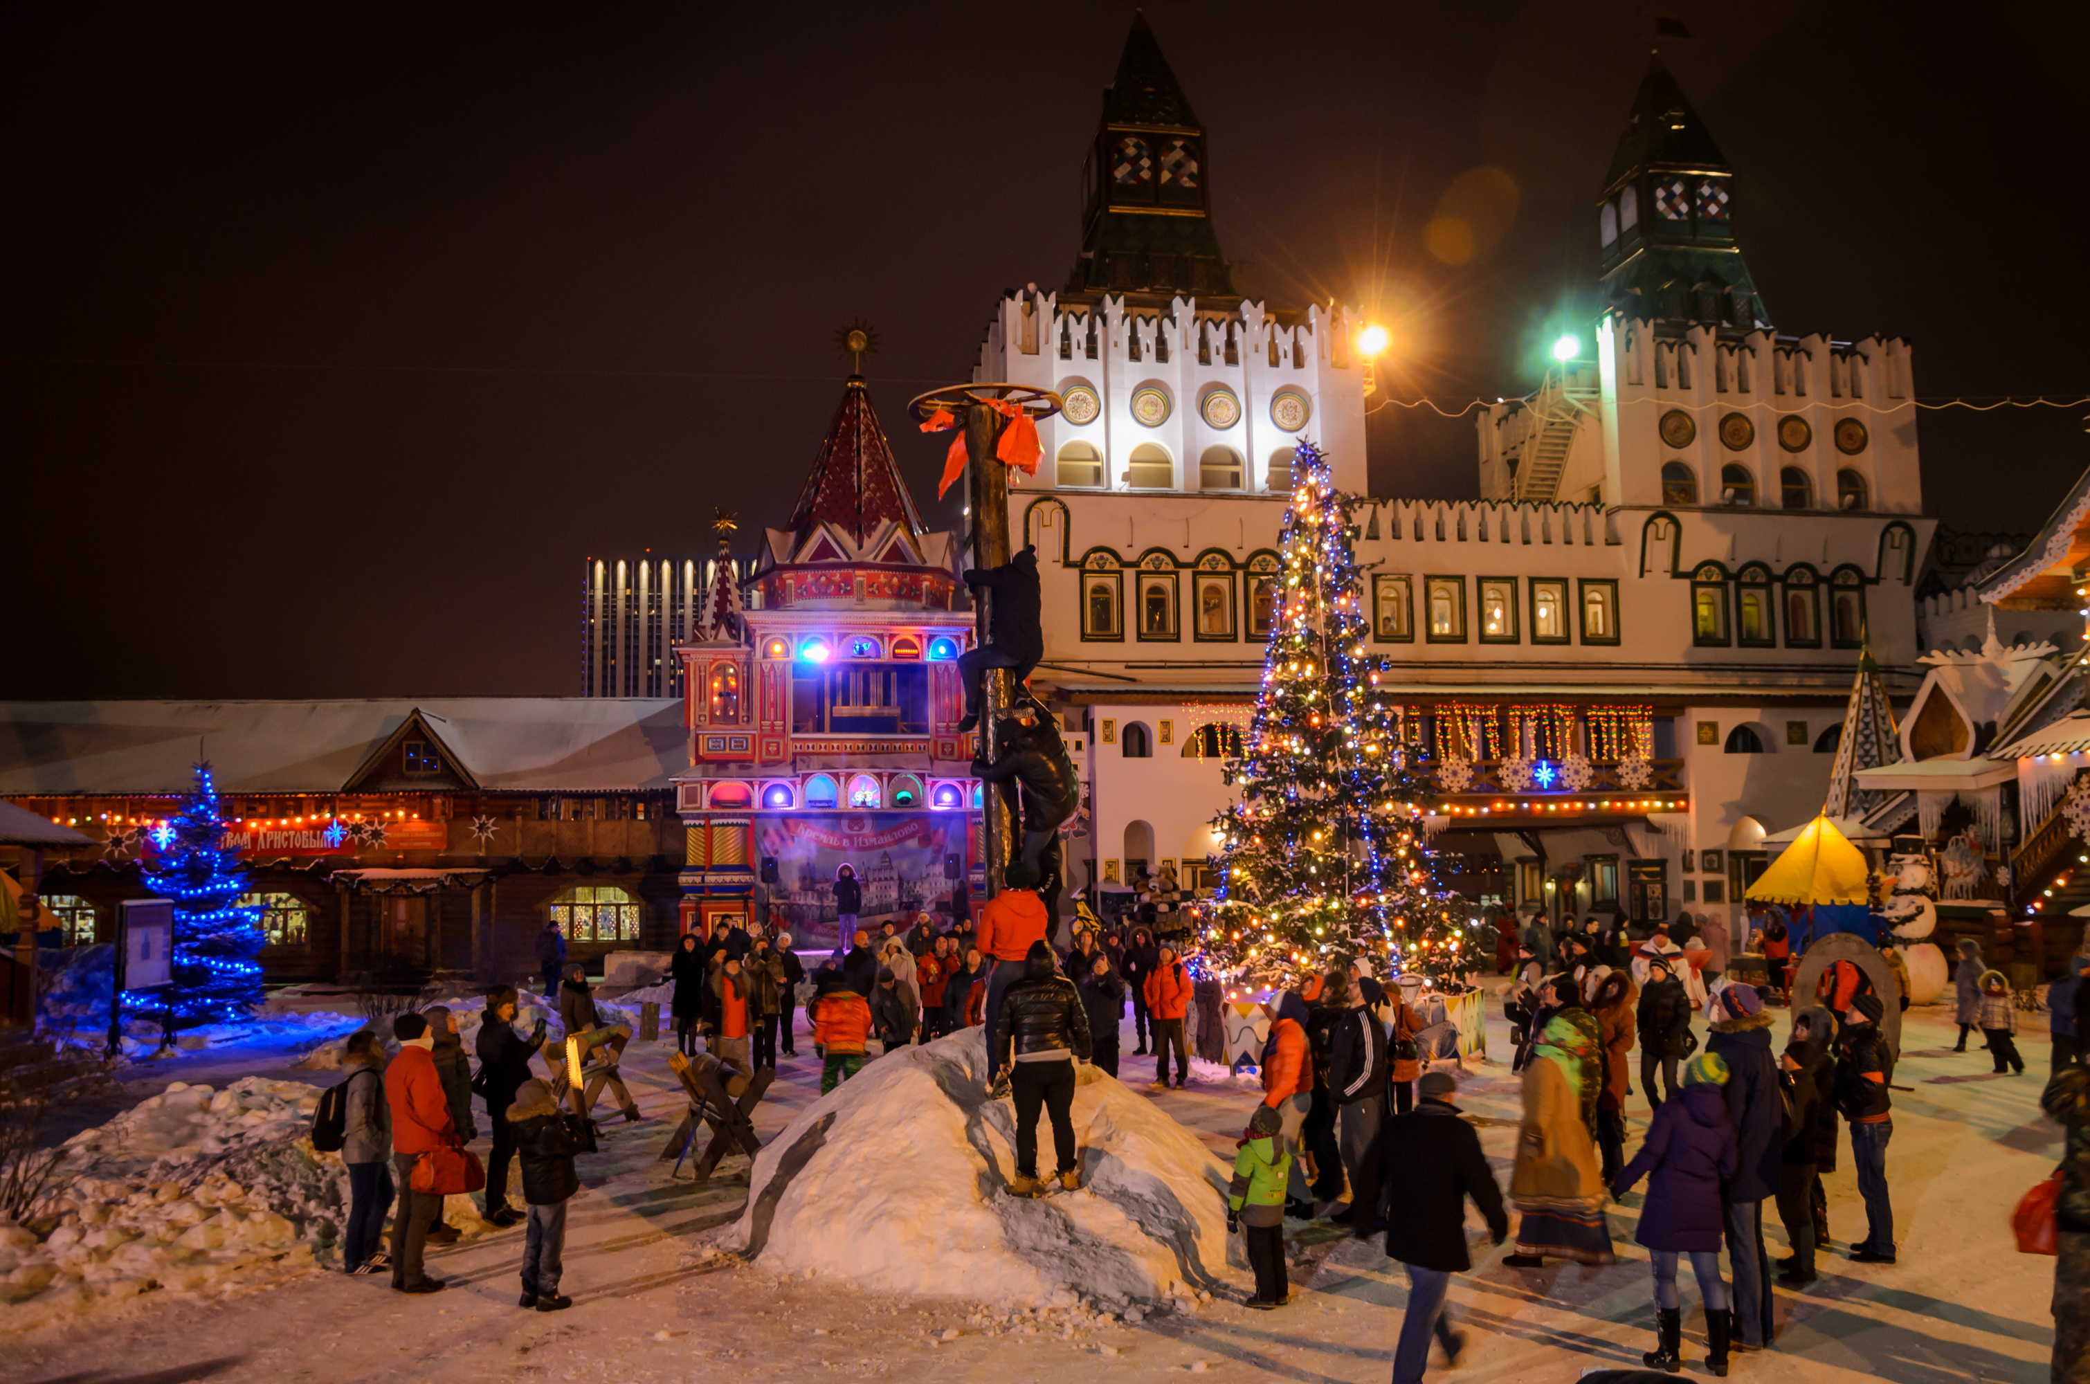
[[[1603,293],[1613,312],[1657,332],[1768,330],[1770,316],[1735,245],[1735,169],[1662,65],[1632,98],[1597,203]]]

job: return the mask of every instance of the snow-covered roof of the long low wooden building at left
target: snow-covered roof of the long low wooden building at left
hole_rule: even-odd
[[[199,755],[222,792],[343,792],[416,711],[487,792],[671,788],[690,763],[679,698],[0,702],[0,797],[186,792]]]

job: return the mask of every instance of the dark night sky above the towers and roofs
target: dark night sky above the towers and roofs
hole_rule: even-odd
[[[1367,303],[1398,397],[1524,393],[1586,314],[1655,13],[1781,330],[1906,335],[1927,399],[2090,393],[2082,4],[1147,13],[1237,282]],[[0,694],[575,694],[581,560],[782,523],[849,316],[955,521],[901,406],[1064,282],[1131,15],[8,6]],[[1478,167],[1515,209],[1446,266]],[[1929,510],[2038,527],[2084,412],[1925,414]],[[1473,456],[1373,418],[1375,493],[1471,495]]]

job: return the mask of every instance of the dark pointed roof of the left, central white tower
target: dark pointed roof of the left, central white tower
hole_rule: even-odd
[[[1081,182],[1081,255],[1068,295],[1233,297],[1212,230],[1204,125],[1143,13],[1124,36]]]

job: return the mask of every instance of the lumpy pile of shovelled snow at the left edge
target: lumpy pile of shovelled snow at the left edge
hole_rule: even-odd
[[[29,1225],[0,1221],[0,1332],[339,1267],[349,1175],[311,1148],[318,1102],[297,1081],[176,1081],[73,1135]],[[447,1198],[445,1219],[491,1229],[468,1196]]]

